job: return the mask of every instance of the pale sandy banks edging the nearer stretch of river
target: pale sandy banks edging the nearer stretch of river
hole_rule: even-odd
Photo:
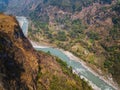
[[[35,47],[35,48],[51,48],[51,46],[46,46],[46,45],[39,45],[39,44],[36,44],[35,42],[32,42],[32,45]],[[58,49],[59,51],[61,51],[62,53],[64,53],[68,58],[70,58],[71,60],[74,60],[76,62],[79,62],[81,63],[81,65],[83,67],[85,67],[89,72],[93,73],[95,76],[97,76],[99,79],[103,80],[104,82],[106,82],[108,85],[112,86],[113,88],[115,88],[116,90],[119,90],[117,85],[112,81],[112,80],[108,80],[106,79],[104,76],[101,76],[99,75],[98,73],[96,73],[94,70],[91,69],[91,67],[87,66],[87,64],[81,60],[80,58],[74,56],[71,52],[69,51],[64,51],[63,49],[60,49],[60,48],[56,48]],[[77,72],[75,71],[75,73],[77,74]],[[81,77],[81,76],[80,76]],[[88,81],[85,77],[81,77],[81,78],[84,78],[86,81]],[[98,90],[99,88],[96,87],[92,82],[89,82],[90,85],[95,89],[95,90]]]

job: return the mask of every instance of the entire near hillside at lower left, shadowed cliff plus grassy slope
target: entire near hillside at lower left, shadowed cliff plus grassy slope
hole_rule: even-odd
[[[92,90],[60,59],[33,49],[15,17],[0,14],[0,90]]]

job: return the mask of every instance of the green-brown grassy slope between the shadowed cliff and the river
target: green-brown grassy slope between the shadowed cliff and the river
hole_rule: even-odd
[[[40,52],[38,90],[92,90],[88,83],[72,73],[57,57]]]

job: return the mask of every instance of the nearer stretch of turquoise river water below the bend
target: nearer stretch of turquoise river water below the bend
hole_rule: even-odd
[[[101,80],[98,76],[90,72],[80,62],[78,62],[77,60],[70,59],[59,49],[57,48],[36,48],[36,49],[42,50],[44,52],[50,51],[52,55],[55,55],[59,57],[61,60],[65,61],[69,66],[73,68],[73,71],[75,71],[81,78],[84,78],[87,81],[90,81],[90,84],[92,85],[94,89],[98,90],[99,88],[101,90],[115,90],[112,86],[108,85],[106,82]]]

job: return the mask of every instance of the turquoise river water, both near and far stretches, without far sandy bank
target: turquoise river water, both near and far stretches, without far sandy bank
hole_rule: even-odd
[[[17,17],[18,18],[18,17]],[[22,17],[22,19],[19,17],[17,19],[20,23],[22,23],[20,26],[23,29],[23,33],[27,35],[27,30],[28,26],[28,21],[23,19],[25,17]],[[27,22],[27,23],[26,23]],[[114,86],[110,85],[109,82],[105,82],[103,79],[101,79],[99,76],[96,76],[95,73],[90,71],[88,67],[86,68],[80,61],[71,59],[69,56],[67,56],[65,53],[63,53],[60,49],[57,48],[52,48],[52,47],[35,47],[36,50],[42,50],[44,52],[50,51],[50,53],[54,56],[59,57],[62,59],[64,62],[68,64],[68,66],[71,66],[73,68],[73,72],[78,74],[81,78],[84,78],[86,81],[90,83],[90,85],[95,89],[95,90],[117,90],[115,89]]]

